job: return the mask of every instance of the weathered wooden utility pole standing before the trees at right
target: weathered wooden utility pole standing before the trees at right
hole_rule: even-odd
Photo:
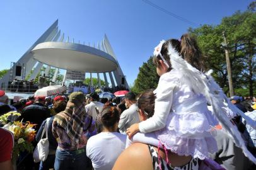
[[[230,96],[234,96],[234,89],[233,89],[233,81],[232,81],[232,73],[231,73],[231,67],[230,67],[230,54],[228,52],[228,43],[226,40],[225,31],[223,31],[223,38],[224,38],[224,50],[226,55],[226,67],[228,71],[228,86],[230,88]]]

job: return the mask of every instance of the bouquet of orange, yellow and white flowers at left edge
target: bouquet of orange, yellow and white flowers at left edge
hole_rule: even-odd
[[[15,144],[13,147],[13,161],[16,161],[20,156],[21,152],[33,152],[32,141],[35,139],[35,127],[34,124],[30,122],[9,122],[4,125],[3,128],[13,132],[13,137]]]

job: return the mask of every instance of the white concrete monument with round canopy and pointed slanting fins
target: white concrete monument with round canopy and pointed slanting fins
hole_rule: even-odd
[[[107,35],[95,47],[89,45],[69,42],[69,37],[64,40],[64,33],[58,28],[58,20],[56,20],[45,33],[38,38],[38,40],[30,47],[18,62],[11,65],[10,71],[0,80],[0,88],[8,86],[8,82],[15,78],[24,79],[31,73],[29,80],[35,79],[43,65],[47,65],[44,75],[48,76],[52,67],[55,68],[52,82],[55,82],[57,72],[59,69],[66,69],[69,71],[79,71],[83,73],[90,73],[85,75],[92,75],[97,73],[97,78],[100,79],[100,74],[103,74],[106,86],[125,86],[129,89],[129,85],[120,68],[117,57],[108,41]],[[17,76],[16,67],[22,66],[21,76]],[[107,74],[110,81],[107,79]],[[113,74],[113,76],[112,76]],[[115,78],[115,81],[114,79]],[[66,80],[66,75],[64,80]],[[92,82],[92,81],[91,81]],[[100,81],[99,82],[99,86]],[[110,83],[109,83],[110,82]],[[116,84],[115,84],[116,82]]]

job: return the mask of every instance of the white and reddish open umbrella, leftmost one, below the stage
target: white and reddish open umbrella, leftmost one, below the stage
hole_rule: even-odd
[[[50,96],[53,94],[58,94],[66,91],[67,88],[65,86],[47,86],[42,89],[38,89],[35,92],[35,97],[37,96]]]

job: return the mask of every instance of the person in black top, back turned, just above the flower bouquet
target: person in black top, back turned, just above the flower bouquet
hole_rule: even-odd
[[[36,97],[35,103],[23,109],[19,119],[23,119],[23,122],[29,121],[30,123],[37,124],[35,130],[38,131],[42,122],[49,117],[50,110],[45,106],[45,97]]]

